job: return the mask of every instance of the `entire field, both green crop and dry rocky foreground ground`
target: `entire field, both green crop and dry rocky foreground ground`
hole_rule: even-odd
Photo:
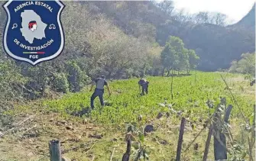
[[[221,75],[227,82],[232,95],[235,96],[238,106]],[[43,100],[39,108],[29,106],[15,108],[15,111],[9,111],[9,114],[22,111],[22,113],[38,115],[34,123],[42,124],[35,128],[40,135],[22,141],[18,139],[16,147],[9,143],[15,140],[14,137],[6,137],[1,148],[4,150],[13,148],[16,153],[10,154],[7,150],[5,153],[0,153],[0,159],[2,159],[1,156],[6,156],[3,160],[23,161],[28,160],[28,157],[30,160],[48,160],[47,142],[53,138],[59,138],[63,140],[61,145],[63,150],[66,150],[63,155],[70,159],[104,161],[110,160],[112,156],[112,161],[122,160],[126,150],[125,134],[127,134],[127,127],[132,124],[139,132],[133,134],[131,160],[134,160],[138,154],[140,146],[146,151],[149,160],[175,160],[180,121],[181,117],[184,117],[190,122],[186,122],[185,126],[182,160],[202,160],[208,134],[208,128],[203,130],[203,126],[215,111],[215,106],[219,104],[221,97],[226,98],[227,105],[233,105],[229,124],[235,143],[241,146],[240,151],[233,152],[241,156],[248,146],[246,140],[249,133],[242,126],[245,122],[239,108],[251,124],[254,118],[254,87],[251,87],[244,77],[224,72],[193,72],[191,76],[173,76],[173,98],[171,98],[171,77],[147,77],[150,82],[149,93],[143,96],[138,89],[138,79],[109,81],[112,95],[109,97],[108,92],[105,91],[105,107],[100,108],[99,98],[96,98],[96,109],[90,114],[83,114],[81,118],[70,114],[89,108],[92,95],[89,87],[83,92],[63,95],[57,100]],[[209,108],[211,106],[212,108]],[[173,111],[180,112],[180,116]],[[159,113],[163,116],[157,118]],[[169,114],[168,117],[167,114]],[[140,121],[138,116],[141,118]],[[147,124],[154,126],[154,132],[141,136]],[[30,126],[32,126],[31,123]],[[74,130],[67,130],[66,126],[72,126],[69,129]],[[200,133],[201,130],[203,130],[202,133]],[[199,136],[192,143],[198,134]],[[92,138],[92,135],[98,135],[99,138]],[[192,146],[186,150],[190,143]],[[32,147],[31,144],[36,146]],[[230,148],[231,144],[227,143],[227,146]],[[40,153],[35,147],[39,147]],[[28,156],[28,152],[34,155],[29,153],[31,156]],[[231,157],[229,153],[228,157],[229,159]],[[213,160],[213,158],[212,137],[208,159]],[[248,155],[245,158],[247,160]]]

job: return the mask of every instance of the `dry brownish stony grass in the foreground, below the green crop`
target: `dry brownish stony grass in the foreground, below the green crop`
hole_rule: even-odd
[[[27,113],[29,110],[27,110]],[[31,109],[31,114],[37,111]],[[28,117],[22,116],[20,119]],[[66,124],[63,124],[66,121]],[[63,123],[62,123],[63,122]],[[163,124],[163,122],[165,122]],[[168,121],[168,118],[161,118],[154,121],[156,131],[145,137],[144,143],[147,153],[151,156],[151,160],[166,160],[167,158],[176,157],[177,138],[179,134],[179,124]],[[36,125],[36,127],[34,127]],[[188,126],[188,125],[187,125]],[[34,127],[34,128],[31,128]],[[66,127],[73,127],[73,130],[66,130]],[[192,130],[187,127],[184,134],[183,150],[186,149],[188,143],[193,140],[193,137],[199,132],[198,127]],[[30,130],[31,129],[31,130]],[[24,137],[24,134],[31,134],[31,137]],[[33,137],[33,134],[38,134]],[[89,138],[89,134],[103,134],[102,139]],[[196,141],[199,143],[199,150],[193,150],[193,146],[187,156],[194,156],[189,160],[199,159],[203,155],[204,138],[207,131]],[[66,150],[63,156],[67,156],[73,160],[109,160],[112,150],[115,147],[115,154],[112,160],[122,159],[122,154],[125,153],[125,131],[124,130],[106,130],[104,127],[83,121],[80,118],[63,118],[60,114],[38,112],[37,117],[27,122],[21,127],[18,127],[12,134],[1,138],[0,144],[0,159],[1,160],[48,160],[48,141],[52,139],[61,140],[61,147]],[[114,139],[114,140],[113,140]],[[92,145],[95,143],[94,147]],[[138,140],[132,143],[132,152],[135,152],[135,147],[138,146]],[[70,150],[72,148],[77,150]],[[89,151],[87,151],[90,147]],[[70,151],[68,151],[70,150]],[[198,153],[198,157],[195,156]],[[191,155],[193,154],[193,155]],[[212,153],[209,153],[209,158],[212,158]]]

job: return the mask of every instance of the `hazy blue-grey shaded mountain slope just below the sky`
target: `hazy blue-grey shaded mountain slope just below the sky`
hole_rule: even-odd
[[[215,24],[193,24],[174,20],[152,2],[95,2],[126,34],[150,35],[164,46],[170,35],[181,37],[186,47],[196,50],[201,57],[199,68],[214,71],[228,68],[241,53],[253,52],[254,8],[238,24],[221,27]],[[139,9],[138,9],[139,8]],[[238,27],[238,26],[245,27]]]

